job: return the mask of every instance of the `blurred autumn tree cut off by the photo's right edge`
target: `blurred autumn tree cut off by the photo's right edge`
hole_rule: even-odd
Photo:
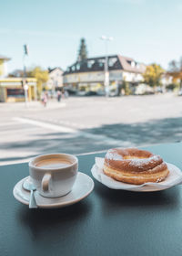
[[[180,88],[182,88],[182,58],[180,58],[179,61],[172,60],[169,63],[169,69],[167,73],[173,77],[174,82],[179,80]]]

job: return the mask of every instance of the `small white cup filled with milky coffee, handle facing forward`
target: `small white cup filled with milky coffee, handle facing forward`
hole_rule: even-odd
[[[43,197],[68,194],[75,181],[78,160],[75,155],[39,155],[29,162],[29,173],[38,193]]]

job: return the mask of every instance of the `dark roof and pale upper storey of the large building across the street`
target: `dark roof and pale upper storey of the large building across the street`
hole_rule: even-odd
[[[90,58],[76,62],[64,72],[64,86],[66,88],[104,86],[105,57]],[[121,55],[108,56],[109,84],[122,84],[126,80],[131,85],[137,85],[143,80],[142,74],[146,69],[144,64]]]

